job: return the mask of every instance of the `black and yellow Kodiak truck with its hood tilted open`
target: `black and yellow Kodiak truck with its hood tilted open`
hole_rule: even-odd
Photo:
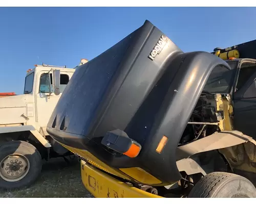
[[[77,68],[47,132],[95,197],[256,197],[255,42],[184,53],[145,21]]]

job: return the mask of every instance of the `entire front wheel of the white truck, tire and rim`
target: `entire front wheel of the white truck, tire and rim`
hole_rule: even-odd
[[[0,188],[16,189],[32,185],[41,172],[38,150],[24,141],[11,141],[0,146]]]

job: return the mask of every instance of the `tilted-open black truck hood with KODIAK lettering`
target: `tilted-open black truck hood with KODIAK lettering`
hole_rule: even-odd
[[[97,46],[97,45],[96,45]],[[163,183],[180,180],[176,148],[204,84],[223,60],[183,53],[151,22],[145,23],[75,71],[47,126],[55,140],[85,149],[115,169],[139,167]],[[136,158],[101,145],[122,130],[141,144]],[[156,148],[165,135],[161,154]]]

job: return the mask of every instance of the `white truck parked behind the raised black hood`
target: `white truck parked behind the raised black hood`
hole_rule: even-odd
[[[0,98],[0,188],[29,186],[40,174],[42,159],[73,155],[46,126],[75,70],[35,65],[27,71],[24,94]]]

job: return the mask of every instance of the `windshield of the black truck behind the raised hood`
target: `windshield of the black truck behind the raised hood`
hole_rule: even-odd
[[[227,63],[231,67],[231,70],[228,70],[222,65],[215,67],[211,71],[203,91],[210,93],[229,93],[233,85],[234,68],[236,68],[237,62],[229,61]]]

